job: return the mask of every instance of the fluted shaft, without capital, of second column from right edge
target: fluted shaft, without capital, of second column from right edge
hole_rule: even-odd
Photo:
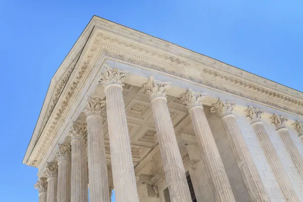
[[[282,141],[284,142],[284,145],[287,149],[287,151],[290,154],[290,157],[298,169],[299,174],[303,178],[303,158],[300,154],[299,149],[294,144],[287,128],[280,128],[277,130],[279,136],[282,138]]]

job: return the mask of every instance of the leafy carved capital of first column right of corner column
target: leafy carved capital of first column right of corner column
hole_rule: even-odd
[[[148,82],[143,84],[140,92],[145,93],[150,100],[154,99],[155,97],[166,97],[170,84],[171,82],[157,81],[150,76]]]

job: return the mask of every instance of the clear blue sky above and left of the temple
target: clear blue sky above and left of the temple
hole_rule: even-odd
[[[0,1],[0,201],[38,201],[21,164],[48,84],[97,15],[303,91],[303,2]]]

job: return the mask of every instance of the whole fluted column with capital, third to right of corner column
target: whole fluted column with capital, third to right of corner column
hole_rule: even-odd
[[[237,124],[236,117],[232,114],[234,106],[234,102],[224,102],[219,99],[216,104],[213,104],[211,112],[216,113],[221,118],[251,201],[269,201],[257,167]]]

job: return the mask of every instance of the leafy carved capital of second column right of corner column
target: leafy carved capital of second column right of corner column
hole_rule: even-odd
[[[189,110],[196,106],[203,107],[202,102],[206,97],[205,93],[195,92],[191,88],[188,88],[187,92],[181,95],[181,101]]]

